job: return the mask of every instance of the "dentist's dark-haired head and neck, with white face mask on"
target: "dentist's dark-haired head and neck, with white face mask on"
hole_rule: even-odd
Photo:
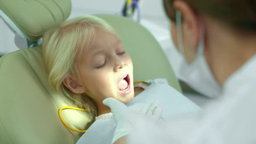
[[[163,4],[173,43],[185,59],[181,78],[203,94],[218,95],[225,81],[256,54],[256,0]]]

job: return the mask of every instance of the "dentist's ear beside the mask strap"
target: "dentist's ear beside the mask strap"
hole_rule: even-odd
[[[200,38],[200,21],[197,13],[183,0],[175,0],[173,7],[181,12],[182,42],[184,55],[188,61],[193,61],[197,53]]]

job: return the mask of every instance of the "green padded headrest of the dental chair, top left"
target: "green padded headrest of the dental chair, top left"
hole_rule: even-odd
[[[71,13],[71,0],[0,0],[0,17],[22,37],[37,40]]]

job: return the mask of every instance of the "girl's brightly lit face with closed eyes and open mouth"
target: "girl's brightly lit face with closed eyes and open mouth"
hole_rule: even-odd
[[[134,97],[131,57],[116,35],[98,28],[95,34],[92,45],[81,55],[80,84],[96,103],[109,97],[127,103]]]

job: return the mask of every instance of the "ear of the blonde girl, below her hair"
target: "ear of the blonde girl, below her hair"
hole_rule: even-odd
[[[77,83],[71,76],[67,76],[62,83],[69,88],[73,93],[84,93],[86,91],[85,86]]]

